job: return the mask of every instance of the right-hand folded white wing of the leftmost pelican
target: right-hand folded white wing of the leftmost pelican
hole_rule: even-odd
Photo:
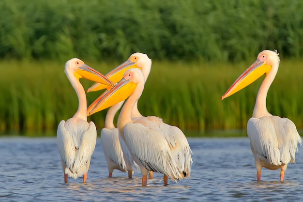
[[[90,122],[88,129],[84,130],[80,137],[79,148],[76,153],[76,159],[72,169],[73,172],[77,171],[78,169],[81,169],[81,171],[78,171],[79,176],[83,175],[87,171],[86,169],[88,169],[86,168],[86,166],[91,161],[91,155],[95,149],[96,141],[97,141],[97,129],[95,124],[93,122]],[[85,170],[84,173],[79,173],[79,172],[83,172],[84,170]]]

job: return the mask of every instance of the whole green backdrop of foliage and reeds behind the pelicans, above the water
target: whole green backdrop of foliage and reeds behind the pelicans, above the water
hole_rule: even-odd
[[[220,98],[264,49],[281,59],[267,108],[301,130],[302,16],[302,0],[1,0],[0,134],[56,135],[78,106],[69,59],[106,74],[142,52],[152,59],[143,115],[187,136],[245,136],[264,77]],[[87,93],[88,105],[101,93]],[[88,118],[99,130],[106,111]]]

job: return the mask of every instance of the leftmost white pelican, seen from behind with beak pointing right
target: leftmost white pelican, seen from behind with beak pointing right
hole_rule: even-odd
[[[67,183],[68,177],[76,179],[83,175],[83,183],[85,183],[91,155],[96,145],[97,130],[93,122],[87,122],[86,95],[79,78],[102,82],[108,86],[115,84],[77,58],[66,62],[64,72],[76,91],[79,105],[72,118],[66,122],[62,120],[58,125],[57,145],[61,156],[64,182]]]

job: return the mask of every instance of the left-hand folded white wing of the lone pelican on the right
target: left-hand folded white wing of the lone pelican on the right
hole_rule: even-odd
[[[247,135],[255,157],[267,159],[272,165],[281,165],[276,130],[269,116],[250,118],[247,123]]]

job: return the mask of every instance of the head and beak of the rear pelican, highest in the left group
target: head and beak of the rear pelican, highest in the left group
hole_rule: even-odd
[[[139,68],[142,70],[143,74],[147,76],[150,74],[152,66],[152,60],[144,53],[133,53],[127,61],[120,64],[118,67],[106,74],[106,77],[109,78],[114,83],[117,83],[123,77],[123,74],[126,70],[131,68]],[[95,83],[93,84],[87,92],[99,91],[107,88],[106,85]]]

